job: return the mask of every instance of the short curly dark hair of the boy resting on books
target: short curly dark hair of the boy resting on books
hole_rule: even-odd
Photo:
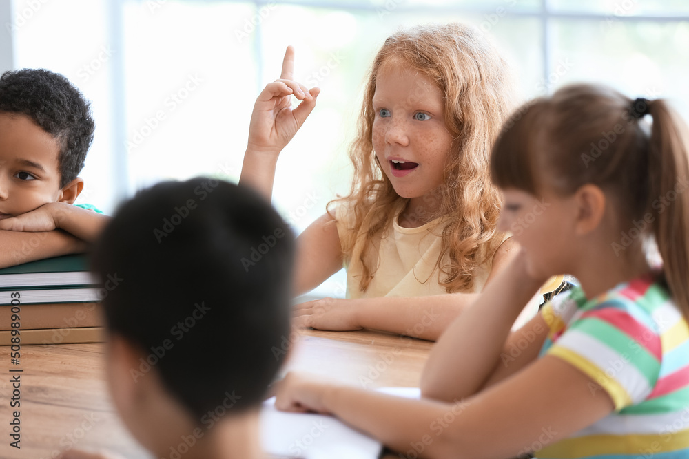
[[[45,69],[10,70],[0,76],[0,112],[29,116],[60,145],[60,187],[84,167],[95,123],[91,104],[67,78]]]

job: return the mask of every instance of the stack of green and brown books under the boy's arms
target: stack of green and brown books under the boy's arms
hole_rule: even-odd
[[[0,269],[0,345],[101,342],[104,296],[85,255]]]

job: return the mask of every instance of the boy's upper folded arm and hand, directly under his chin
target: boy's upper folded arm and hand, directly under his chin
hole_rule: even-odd
[[[61,229],[85,242],[94,242],[110,217],[66,202],[49,202],[38,209],[0,220],[0,229],[35,233]]]

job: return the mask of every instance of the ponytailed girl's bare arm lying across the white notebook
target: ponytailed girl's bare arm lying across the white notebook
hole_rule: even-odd
[[[612,399],[592,395],[592,384],[584,372],[553,356],[480,394],[449,402],[398,398],[287,374],[276,406],[333,414],[402,454],[506,458],[533,451],[537,441],[555,443],[610,414]]]

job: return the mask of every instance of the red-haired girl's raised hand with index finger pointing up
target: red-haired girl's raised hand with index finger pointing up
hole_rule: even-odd
[[[277,155],[294,137],[306,118],[316,107],[318,87],[309,91],[294,78],[294,48],[287,47],[282,61],[280,79],[269,83],[258,95],[249,124],[247,154],[273,153]],[[302,102],[291,108],[291,96]]]

